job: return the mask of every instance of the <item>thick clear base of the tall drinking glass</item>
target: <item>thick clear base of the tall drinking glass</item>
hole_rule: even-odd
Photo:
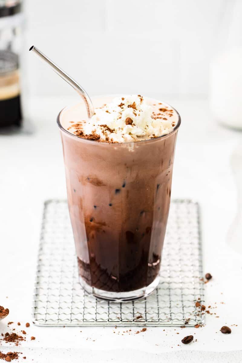
[[[148,286],[142,287],[138,290],[133,291],[126,291],[126,292],[112,292],[112,291],[105,291],[96,289],[96,287],[92,287],[86,283],[80,276],[79,282],[83,289],[92,294],[97,299],[107,300],[107,301],[114,301],[114,302],[122,302],[122,301],[133,301],[138,299],[143,299],[150,295],[156,287],[159,285],[160,277],[157,276],[155,280]]]

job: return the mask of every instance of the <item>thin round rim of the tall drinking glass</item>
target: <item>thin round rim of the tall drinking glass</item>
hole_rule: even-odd
[[[157,136],[156,138],[152,138],[152,139],[147,139],[147,140],[140,140],[140,141],[126,141],[126,142],[98,142],[96,140],[89,140],[89,139],[84,139],[80,136],[77,136],[77,135],[74,135],[74,134],[71,134],[71,132],[69,132],[68,130],[64,129],[64,127],[61,125],[61,122],[60,122],[60,117],[61,117],[61,114],[64,110],[68,109],[69,107],[72,107],[72,106],[65,106],[57,115],[57,125],[58,127],[60,128],[60,130],[62,132],[65,132],[68,136],[76,139],[76,140],[79,140],[79,141],[82,141],[82,142],[86,142],[86,143],[89,143],[89,144],[94,144],[94,145],[100,145],[100,144],[110,144],[110,145],[115,145],[115,146],[122,146],[122,145],[127,145],[127,144],[140,144],[140,143],[147,143],[147,142],[154,142],[156,140],[159,140],[161,138],[165,138],[165,137],[169,137],[171,136],[172,134],[174,134],[180,127],[181,125],[181,116],[180,114],[177,112],[177,110],[172,107],[171,105],[169,105],[169,103],[165,103],[167,106],[171,107],[178,115],[178,122],[176,124],[176,126],[174,127],[174,129],[169,132],[169,134],[165,134],[165,135],[161,135],[161,136]],[[79,105],[79,103],[77,103],[77,105]]]

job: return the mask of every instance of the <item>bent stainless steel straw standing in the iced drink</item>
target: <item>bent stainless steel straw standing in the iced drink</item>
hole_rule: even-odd
[[[32,47],[30,47],[29,50],[33,50],[34,53],[36,53],[42,60],[44,60],[53,69],[54,72],[58,74],[58,76],[63,78],[67,83],[69,83],[69,85],[71,85],[74,88],[74,90],[77,91],[77,93],[83,98],[85,102],[88,117],[91,118],[94,115],[94,107],[86,91],[80,85],[78,85],[78,83],[75,82],[73,78],[68,76],[68,74],[66,74],[54,62],[52,62],[48,57],[46,57],[46,55],[42,53],[34,45],[32,45]]]

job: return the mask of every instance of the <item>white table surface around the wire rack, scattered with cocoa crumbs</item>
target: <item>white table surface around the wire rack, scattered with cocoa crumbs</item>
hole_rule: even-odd
[[[231,248],[227,238],[237,208],[230,156],[241,143],[242,133],[218,126],[204,100],[169,102],[182,118],[172,197],[200,202],[204,273],[213,275],[205,285],[205,305],[217,305],[210,311],[219,318],[206,314],[206,325],[198,329],[148,327],[135,334],[138,329],[131,328],[130,335],[118,334],[127,328],[33,326],[30,314],[43,202],[66,197],[56,115],[69,99],[32,98],[29,107],[35,132],[0,136],[0,305],[10,310],[0,321],[0,333],[10,328],[27,332],[21,347],[10,348],[2,342],[0,351],[21,351],[26,362],[242,360],[242,255]],[[9,328],[8,321],[14,322]],[[30,322],[29,328],[25,328],[26,322]],[[230,335],[220,332],[223,325],[231,327]],[[190,334],[197,342],[182,344],[181,339]],[[36,340],[30,341],[30,336]]]

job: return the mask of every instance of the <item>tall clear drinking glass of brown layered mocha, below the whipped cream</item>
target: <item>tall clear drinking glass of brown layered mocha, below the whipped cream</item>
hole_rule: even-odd
[[[102,299],[145,297],[159,283],[180,116],[168,135],[118,144],[62,127],[83,112],[67,107],[57,119],[80,283]]]

